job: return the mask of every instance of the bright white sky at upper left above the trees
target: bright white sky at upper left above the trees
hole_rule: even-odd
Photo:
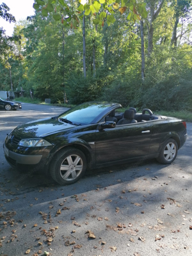
[[[15,17],[17,22],[35,14],[33,9],[34,0],[3,0],[0,1],[0,4],[2,3],[5,3],[10,8],[9,13]],[[15,23],[10,23],[0,18],[0,27],[6,30],[7,36],[12,36],[14,26]]]

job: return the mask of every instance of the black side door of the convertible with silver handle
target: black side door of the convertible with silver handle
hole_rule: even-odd
[[[96,131],[96,164],[112,163],[148,154],[150,125],[145,123],[117,125]]]

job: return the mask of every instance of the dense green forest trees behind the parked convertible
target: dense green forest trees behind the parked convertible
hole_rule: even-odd
[[[118,8],[116,0],[109,9],[96,0],[100,8],[89,12],[76,0],[55,7],[47,0],[48,9],[36,0],[35,15],[17,22],[12,37],[1,28],[0,90],[22,88],[28,97],[31,90],[52,103],[106,100],[191,111],[191,1],[145,0],[147,14],[138,19],[131,1]],[[0,15],[15,22],[6,4]]]

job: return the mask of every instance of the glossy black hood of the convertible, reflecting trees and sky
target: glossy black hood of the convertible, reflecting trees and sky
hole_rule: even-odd
[[[37,138],[73,127],[76,127],[76,125],[63,123],[54,118],[44,118],[19,125],[15,128],[14,135],[21,138]]]

